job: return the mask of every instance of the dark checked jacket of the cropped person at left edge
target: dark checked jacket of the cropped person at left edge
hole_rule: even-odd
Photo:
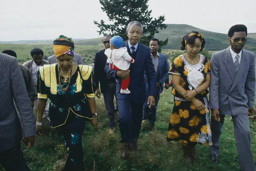
[[[34,113],[16,58],[0,53],[0,152],[18,145],[24,137],[36,135]],[[21,123],[14,107],[20,113]]]

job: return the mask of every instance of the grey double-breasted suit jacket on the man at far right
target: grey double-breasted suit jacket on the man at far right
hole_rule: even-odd
[[[254,107],[254,53],[242,50],[238,72],[236,72],[229,48],[214,53],[210,64],[209,108],[219,109],[224,115],[248,113],[248,107]]]

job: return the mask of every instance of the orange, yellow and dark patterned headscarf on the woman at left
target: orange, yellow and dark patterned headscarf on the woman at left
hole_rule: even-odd
[[[72,38],[68,38],[67,36],[60,35],[53,42],[54,46],[54,54],[56,58],[62,56],[63,54],[69,54],[74,57],[74,41]]]

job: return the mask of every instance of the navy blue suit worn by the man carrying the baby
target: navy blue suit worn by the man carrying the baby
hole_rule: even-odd
[[[128,41],[124,42],[123,47],[127,47],[127,52],[133,56],[128,47]],[[122,140],[121,143],[131,143],[137,141],[140,135],[140,128],[143,117],[143,103],[146,96],[146,86],[144,82],[144,72],[148,78],[149,95],[156,95],[156,71],[151,58],[150,48],[138,43],[136,49],[135,64],[130,66],[130,84],[128,89],[130,94],[121,94],[122,78],[119,78],[117,71],[111,70],[109,64],[105,66],[105,72],[116,78],[116,95],[119,113],[119,129]]]

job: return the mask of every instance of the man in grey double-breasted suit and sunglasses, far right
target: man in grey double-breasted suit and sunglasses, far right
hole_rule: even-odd
[[[228,32],[230,47],[212,55],[209,108],[212,109],[210,155],[218,163],[220,134],[225,115],[231,115],[238,159],[242,171],[255,171],[251,151],[248,113],[254,114],[255,55],[243,50],[247,40],[244,25]]]

